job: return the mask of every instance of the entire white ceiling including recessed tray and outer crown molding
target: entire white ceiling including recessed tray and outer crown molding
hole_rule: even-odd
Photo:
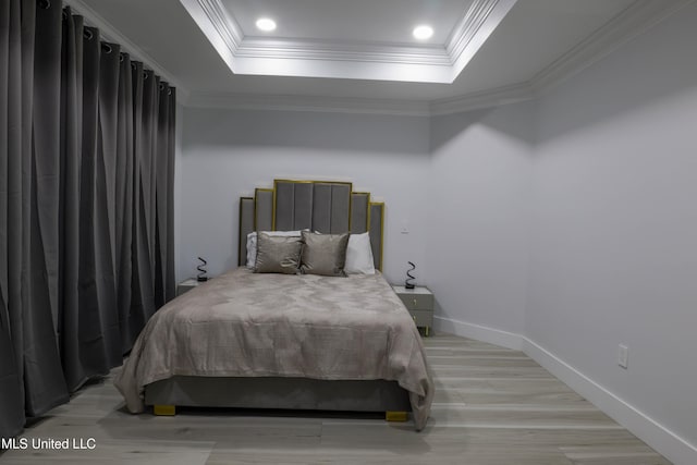
[[[399,114],[533,98],[694,1],[63,0],[185,105]]]

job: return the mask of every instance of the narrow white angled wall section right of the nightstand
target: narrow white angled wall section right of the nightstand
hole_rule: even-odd
[[[428,279],[442,329],[525,330],[534,115],[518,103],[431,122]]]

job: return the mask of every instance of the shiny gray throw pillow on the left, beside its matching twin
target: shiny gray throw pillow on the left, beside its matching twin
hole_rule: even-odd
[[[257,264],[255,273],[297,273],[301,262],[301,237],[257,235]]]

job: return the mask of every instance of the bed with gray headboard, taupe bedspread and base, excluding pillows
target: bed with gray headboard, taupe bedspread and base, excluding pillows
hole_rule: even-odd
[[[240,205],[241,267],[148,321],[114,381],[129,411],[411,412],[423,429],[433,383],[418,330],[379,271],[384,206],[348,183],[293,181]],[[299,229],[369,234],[376,272],[338,278],[245,266],[249,232]]]

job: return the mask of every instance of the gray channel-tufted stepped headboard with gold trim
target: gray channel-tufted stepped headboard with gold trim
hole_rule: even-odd
[[[239,265],[246,261],[253,231],[368,231],[375,267],[381,270],[383,218],[384,204],[370,201],[370,193],[353,192],[348,182],[276,180],[273,188],[256,188],[254,197],[240,198]]]

